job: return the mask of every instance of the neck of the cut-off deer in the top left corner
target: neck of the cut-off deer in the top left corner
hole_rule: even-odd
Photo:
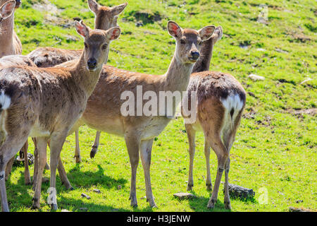
[[[15,54],[13,47],[14,15],[0,23],[0,58]]]

